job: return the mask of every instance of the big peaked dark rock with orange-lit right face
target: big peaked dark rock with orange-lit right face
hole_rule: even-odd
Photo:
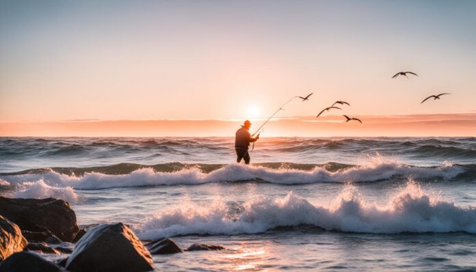
[[[152,256],[123,223],[91,228],[66,262],[68,271],[150,271]]]

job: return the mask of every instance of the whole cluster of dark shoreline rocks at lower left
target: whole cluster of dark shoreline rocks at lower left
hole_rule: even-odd
[[[201,243],[181,249],[168,238],[140,241],[122,222],[80,229],[68,202],[54,198],[0,197],[0,234],[0,272],[152,271],[152,255],[224,249]],[[69,255],[51,262],[42,254]]]

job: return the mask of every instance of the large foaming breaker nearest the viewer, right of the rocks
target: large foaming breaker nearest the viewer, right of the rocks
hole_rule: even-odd
[[[185,204],[155,215],[138,226],[137,232],[141,239],[156,239],[187,234],[251,234],[303,224],[345,232],[476,233],[476,209],[455,206],[410,181],[384,206],[367,202],[356,188],[347,186],[328,206],[316,206],[291,192],[284,198],[246,202],[243,213],[235,217],[230,217],[224,203]]]

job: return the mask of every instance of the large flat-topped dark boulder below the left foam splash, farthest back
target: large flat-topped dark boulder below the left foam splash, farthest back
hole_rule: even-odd
[[[16,223],[21,230],[51,232],[62,241],[72,241],[79,228],[75,211],[68,202],[0,197],[0,215]]]

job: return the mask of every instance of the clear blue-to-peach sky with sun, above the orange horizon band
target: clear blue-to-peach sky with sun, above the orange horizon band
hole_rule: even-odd
[[[419,77],[391,79],[401,70]],[[0,0],[0,135],[64,120],[259,121],[310,92],[279,116],[346,100],[347,115],[465,119],[475,74],[476,1]]]

